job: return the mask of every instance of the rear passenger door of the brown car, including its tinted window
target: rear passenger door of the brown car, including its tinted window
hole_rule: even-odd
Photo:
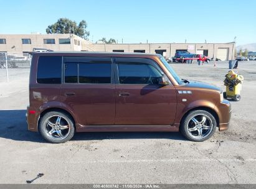
[[[111,58],[64,57],[62,102],[82,125],[115,121],[115,85]]]

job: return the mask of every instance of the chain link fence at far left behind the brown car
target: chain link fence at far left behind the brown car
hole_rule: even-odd
[[[0,52],[0,82],[8,82],[9,74],[20,68],[30,68],[31,55],[28,53]]]

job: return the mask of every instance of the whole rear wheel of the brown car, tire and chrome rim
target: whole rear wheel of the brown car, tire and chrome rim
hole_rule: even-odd
[[[42,137],[51,143],[69,141],[75,132],[74,123],[68,114],[50,111],[44,114],[39,124]]]

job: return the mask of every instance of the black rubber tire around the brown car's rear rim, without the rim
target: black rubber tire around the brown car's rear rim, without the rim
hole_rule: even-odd
[[[47,118],[49,118],[50,116],[53,116],[53,115],[59,115],[59,116],[62,116],[64,117],[67,122],[69,122],[69,125],[70,125],[70,132],[69,132],[69,135],[67,137],[65,137],[65,139],[52,139],[51,137],[49,137],[43,127],[44,127],[44,124],[45,124],[45,121]],[[59,112],[59,111],[50,111],[48,113],[45,113],[44,116],[42,117],[42,119],[40,119],[40,123],[39,123],[39,132],[41,134],[42,137],[44,137],[44,139],[48,142],[51,142],[51,143],[63,143],[63,142],[67,142],[69,141],[70,139],[72,139],[73,137],[73,134],[75,133],[75,127],[74,127],[74,123],[72,121],[72,118],[70,118],[69,115],[65,114],[65,113],[62,113],[62,112]]]

